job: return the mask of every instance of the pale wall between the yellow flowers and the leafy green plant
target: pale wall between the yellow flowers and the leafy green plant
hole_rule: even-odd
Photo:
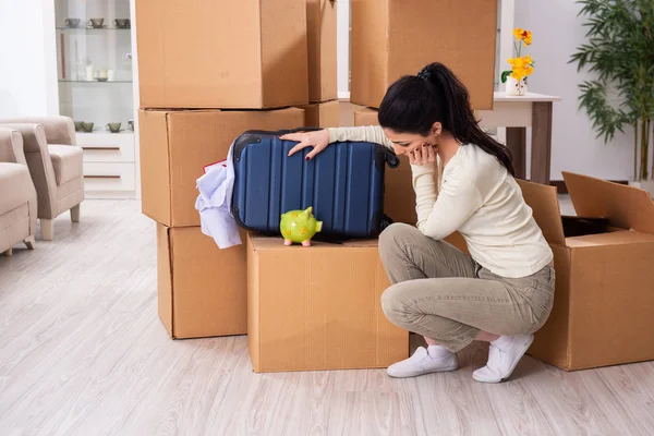
[[[533,32],[533,44],[526,49],[535,62],[529,90],[562,98],[554,104],[552,180],[562,180],[562,170],[628,180],[633,172],[633,135],[629,131],[628,135],[617,134],[605,145],[603,138],[595,138],[585,111],[578,110],[577,85],[592,77],[584,71],[577,73],[576,64],[567,63],[586,40],[585,19],[577,16],[580,9],[571,0],[516,1],[514,26]]]

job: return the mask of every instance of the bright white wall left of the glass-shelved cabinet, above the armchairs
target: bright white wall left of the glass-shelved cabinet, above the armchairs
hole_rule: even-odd
[[[0,0],[0,118],[58,113],[55,37],[52,0]]]

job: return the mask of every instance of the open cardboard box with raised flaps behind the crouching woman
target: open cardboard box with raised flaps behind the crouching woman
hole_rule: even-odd
[[[556,187],[520,181],[555,256],[554,308],[529,353],[564,370],[654,360],[654,203],[635,187],[564,172],[579,217],[561,222]],[[577,223],[574,223],[578,221]],[[574,226],[570,226],[573,223]],[[574,227],[574,237],[568,237]]]

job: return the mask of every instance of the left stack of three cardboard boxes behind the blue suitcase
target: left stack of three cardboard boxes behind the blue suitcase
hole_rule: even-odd
[[[159,316],[173,338],[245,334],[246,233],[220,250],[195,209],[203,167],[246,130],[304,124],[304,0],[136,3],[143,213],[157,221]]]

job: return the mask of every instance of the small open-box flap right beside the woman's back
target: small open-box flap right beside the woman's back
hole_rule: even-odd
[[[564,225],[555,186],[517,180],[522,197],[532,208],[534,219],[550,244],[566,244]]]

